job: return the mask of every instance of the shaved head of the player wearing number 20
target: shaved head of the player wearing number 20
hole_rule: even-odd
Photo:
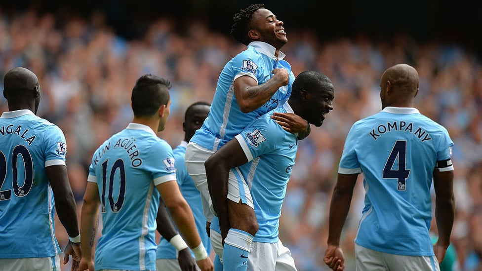
[[[3,77],[3,97],[10,111],[29,109],[37,113],[40,103],[39,78],[23,67],[13,68]]]

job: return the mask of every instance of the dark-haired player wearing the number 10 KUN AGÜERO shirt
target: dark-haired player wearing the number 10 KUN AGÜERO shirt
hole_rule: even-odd
[[[156,270],[159,193],[198,266],[213,270],[192,211],[179,191],[172,149],[156,136],[169,116],[170,86],[161,77],[140,77],[132,89],[133,121],[92,157],[81,213],[80,270],[94,270],[99,205],[103,230],[95,250],[95,270]]]

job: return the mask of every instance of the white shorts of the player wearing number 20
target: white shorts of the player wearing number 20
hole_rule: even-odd
[[[60,271],[60,258],[59,255],[41,258],[5,258],[0,259],[0,270]]]

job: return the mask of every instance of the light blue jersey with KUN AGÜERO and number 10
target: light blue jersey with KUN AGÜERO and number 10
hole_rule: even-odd
[[[94,153],[89,182],[97,183],[102,236],[96,269],[156,270],[157,185],[176,180],[172,149],[143,124],[130,123]]]

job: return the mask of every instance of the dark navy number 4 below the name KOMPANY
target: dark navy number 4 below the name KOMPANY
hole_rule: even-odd
[[[394,169],[396,161],[398,163],[396,169]],[[397,190],[405,191],[408,175],[410,175],[410,169],[406,169],[406,141],[397,140],[385,162],[382,177],[384,179],[397,179]]]

